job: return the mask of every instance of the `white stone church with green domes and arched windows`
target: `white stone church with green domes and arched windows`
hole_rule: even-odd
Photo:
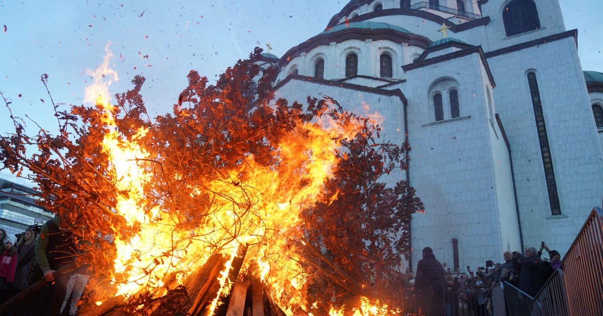
[[[577,35],[555,0],[352,0],[259,62],[277,96],[327,95],[408,135],[408,173],[388,181],[425,203],[409,265],[429,246],[464,272],[541,241],[563,256],[601,206],[603,73],[583,72]]]

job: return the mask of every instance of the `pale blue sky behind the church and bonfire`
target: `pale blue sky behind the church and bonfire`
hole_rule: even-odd
[[[15,116],[31,117],[52,130],[52,105],[40,81],[48,74],[55,102],[80,105],[91,83],[86,69],[115,57],[119,81],[112,94],[131,88],[134,75],[147,81],[142,96],[151,117],[172,110],[191,69],[212,82],[253,48],[282,56],[324,30],[347,1],[39,1],[0,0],[0,91]],[[566,29],[578,28],[584,70],[603,72],[602,0],[560,0]],[[4,102],[0,134],[13,132]],[[52,120],[51,120],[52,119]],[[27,120],[28,131],[36,126]],[[27,184],[7,170],[0,177]]]

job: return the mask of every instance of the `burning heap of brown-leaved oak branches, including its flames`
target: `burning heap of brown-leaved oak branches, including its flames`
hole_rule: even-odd
[[[409,220],[423,205],[406,182],[380,178],[407,169],[407,144],[383,143],[372,120],[328,97],[275,99],[275,70],[256,78],[260,52],[214,85],[191,71],[172,113],[151,120],[141,76],[110,104],[118,77],[107,50],[89,73],[92,106],[53,103],[57,135],[27,135],[14,118],[1,138],[3,167],[29,170],[38,203],[72,223],[101,299],[158,296],[168,279],[216,253],[228,266],[247,245],[243,267],[257,265],[287,314],[337,314],[359,296],[395,306]],[[234,280],[221,278],[226,292]]]

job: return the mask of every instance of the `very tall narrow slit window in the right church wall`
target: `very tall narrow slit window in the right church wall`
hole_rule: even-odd
[[[534,117],[536,119],[536,130],[538,131],[538,141],[540,142],[540,153],[542,163],[545,167],[546,189],[549,193],[549,203],[551,204],[551,214],[561,214],[561,205],[557,194],[557,182],[555,181],[555,170],[553,169],[553,160],[551,157],[551,146],[549,146],[549,137],[546,134],[545,116],[543,115],[542,102],[540,101],[540,91],[538,90],[538,81],[536,74],[528,73],[528,84],[530,96],[532,97],[532,107],[534,108]]]

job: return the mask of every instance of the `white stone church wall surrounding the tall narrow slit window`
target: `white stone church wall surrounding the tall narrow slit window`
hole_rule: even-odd
[[[572,37],[488,58],[494,99],[511,143],[517,199],[526,247],[541,240],[564,255],[590,209],[603,196],[603,158]],[[535,70],[560,196],[552,216],[529,94]],[[591,154],[595,152],[599,154]]]

